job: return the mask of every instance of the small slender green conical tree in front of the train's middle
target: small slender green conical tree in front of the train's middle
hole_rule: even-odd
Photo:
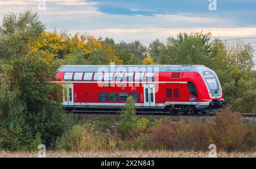
[[[134,108],[136,101],[133,96],[127,98],[125,107],[122,109],[120,126],[125,134],[137,127],[136,109]]]

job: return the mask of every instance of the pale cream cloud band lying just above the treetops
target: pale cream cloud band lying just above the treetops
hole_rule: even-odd
[[[152,40],[159,39],[160,41],[166,41],[168,36],[174,36],[179,32],[211,32],[213,37],[221,37],[221,39],[230,39],[233,37],[256,37],[256,27],[253,28],[223,28],[223,27],[208,27],[208,28],[140,28],[140,29],[90,29],[79,31],[80,33],[88,33],[89,35],[95,35],[96,37],[112,37],[115,41],[125,40],[134,41],[140,40],[142,43],[149,43]],[[69,31],[71,33],[77,32],[76,30]]]

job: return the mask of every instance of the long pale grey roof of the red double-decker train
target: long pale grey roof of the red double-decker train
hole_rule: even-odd
[[[63,65],[59,71],[65,72],[154,72],[154,71],[199,71],[208,69],[204,65]]]

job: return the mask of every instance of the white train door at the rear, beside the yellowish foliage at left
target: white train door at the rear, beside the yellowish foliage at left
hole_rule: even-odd
[[[63,84],[63,105],[64,107],[73,107],[74,105],[73,84]]]

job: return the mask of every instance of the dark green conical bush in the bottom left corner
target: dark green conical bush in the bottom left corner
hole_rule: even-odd
[[[40,134],[34,135],[28,125],[26,105],[17,100],[11,102],[9,107],[8,120],[5,119],[5,126],[1,129],[0,148],[10,151],[36,150],[42,140]]]

